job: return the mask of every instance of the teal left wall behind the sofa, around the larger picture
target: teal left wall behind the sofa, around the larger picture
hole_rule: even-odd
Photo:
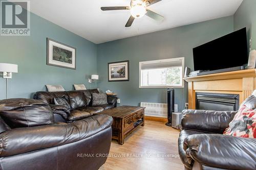
[[[47,37],[76,47],[76,70],[46,65]],[[9,83],[9,98],[31,98],[34,92],[45,91],[46,84],[66,90],[76,83],[90,87],[87,79],[97,73],[96,50],[96,44],[31,13],[31,36],[0,36],[0,62],[18,64],[18,73]],[[0,99],[5,99],[2,73],[0,89]]]

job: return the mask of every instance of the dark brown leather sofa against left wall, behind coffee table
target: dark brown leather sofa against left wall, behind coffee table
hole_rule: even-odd
[[[35,93],[34,99],[48,103],[58,122],[73,122],[117,106],[117,97],[115,96],[108,96],[108,105],[92,106],[92,93],[99,93],[99,91],[97,89],[59,92],[39,91]],[[69,99],[71,110],[54,104],[54,98],[61,96]]]

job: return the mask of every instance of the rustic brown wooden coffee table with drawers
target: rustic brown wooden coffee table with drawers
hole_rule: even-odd
[[[120,106],[108,109],[99,114],[108,114],[113,117],[112,139],[117,139],[119,144],[124,143],[124,138],[140,126],[144,126],[144,107]]]

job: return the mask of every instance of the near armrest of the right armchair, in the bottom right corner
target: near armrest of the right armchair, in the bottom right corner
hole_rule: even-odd
[[[206,166],[223,169],[256,169],[255,145],[254,138],[221,134],[196,134],[184,140],[188,158]]]

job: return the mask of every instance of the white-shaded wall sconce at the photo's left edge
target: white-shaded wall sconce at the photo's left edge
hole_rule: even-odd
[[[0,72],[3,72],[3,78],[6,79],[6,99],[8,99],[8,79],[12,78],[12,72],[18,72],[18,65],[0,63]]]

